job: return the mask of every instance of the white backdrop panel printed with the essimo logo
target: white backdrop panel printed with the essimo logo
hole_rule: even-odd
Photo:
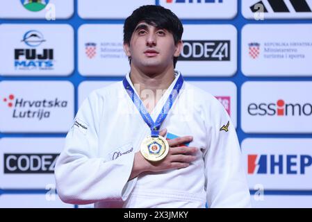
[[[312,133],[312,82],[245,82],[245,133]]]

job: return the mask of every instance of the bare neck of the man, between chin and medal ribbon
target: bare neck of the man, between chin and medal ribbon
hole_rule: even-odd
[[[136,67],[131,67],[130,78],[139,95],[141,95],[142,91],[145,89],[151,90],[154,95],[156,95],[159,90],[164,93],[165,90],[170,87],[171,83],[174,81],[174,68],[170,67],[159,73],[147,74],[136,69]]]

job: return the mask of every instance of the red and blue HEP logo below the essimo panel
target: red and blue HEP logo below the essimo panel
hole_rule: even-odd
[[[248,174],[304,174],[311,155],[248,155]]]

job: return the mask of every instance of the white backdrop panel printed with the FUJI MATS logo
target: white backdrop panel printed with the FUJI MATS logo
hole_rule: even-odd
[[[1,24],[0,74],[68,76],[74,71],[74,30],[67,24]]]

